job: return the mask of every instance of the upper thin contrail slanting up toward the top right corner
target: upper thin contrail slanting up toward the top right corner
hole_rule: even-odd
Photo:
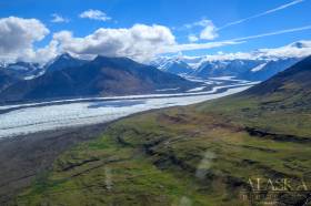
[[[237,20],[237,21],[233,21],[233,22],[229,22],[222,27],[219,27],[218,30],[222,30],[224,28],[228,28],[228,27],[231,27],[231,25],[235,25],[235,24],[240,24],[240,23],[243,23],[244,21],[249,21],[249,20],[252,20],[252,19],[257,19],[257,18],[260,18],[260,17],[263,17],[263,16],[267,16],[267,14],[270,14],[270,13],[274,13],[277,11],[280,11],[280,10],[283,10],[283,9],[287,9],[289,7],[292,7],[294,4],[298,4],[298,3],[301,3],[303,2],[304,0],[294,0],[292,2],[289,2],[289,3],[285,3],[285,4],[282,4],[282,6],[279,6],[274,9],[270,9],[268,11],[264,11],[264,12],[261,12],[261,13],[258,13],[258,14],[254,14],[254,16],[251,16],[251,17],[248,17],[248,18],[244,18],[244,19],[240,19],[240,20]]]

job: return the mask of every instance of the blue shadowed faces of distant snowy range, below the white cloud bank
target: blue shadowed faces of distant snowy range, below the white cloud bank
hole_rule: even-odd
[[[299,47],[295,44],[294,48]],[[201,60],[200,60],[201,59]],[[188,59],[159,58],[151,62],[162,71],[174,74],[188,74],[197,78],[235,76],[250,81],[265,81],[279,72],[299,62],[301,58],[257,58],[234,60],[204,60],[198,58],[193,62]],[[192,60],[193,61],[193,60]],[[192,68],[190,66],[192,65]]]

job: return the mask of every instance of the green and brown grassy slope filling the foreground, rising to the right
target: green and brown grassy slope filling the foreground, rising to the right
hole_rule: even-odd
[[[121,120],[17,203],[308,205],[310,78],[311,56],[243,93]]]

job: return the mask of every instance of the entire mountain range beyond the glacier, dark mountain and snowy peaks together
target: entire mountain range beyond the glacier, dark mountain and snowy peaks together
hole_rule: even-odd
[[[264,81],[308,52],[309,41],[250,53],[205,56],[161,56],[148,64],[127,58],[98,56],[81,60],[63,53],[44,65],[16,62],[0,66],[1,102],[157,93],[174,89],[183,92],[199,83],[178,75],[201,79],[234,76]],[[158,70],[159,69],[159,70]]]

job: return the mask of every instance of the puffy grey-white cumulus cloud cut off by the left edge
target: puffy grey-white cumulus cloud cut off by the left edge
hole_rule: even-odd
[[[48,28],[37,19],[0,19],[0,59],[14,60],[32,55],[33,43],[48,33]]]

